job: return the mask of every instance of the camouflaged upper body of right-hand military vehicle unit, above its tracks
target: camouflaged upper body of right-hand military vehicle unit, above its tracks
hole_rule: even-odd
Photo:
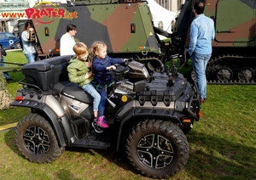
[[[196,1],[198,0],[190,0],[183,9],[183,14],[189,16],[183,17],[182,22],[187,27],[194,19],[191,9]],[[256,2],[251,0],[204,0],[202,2],[206,4],[204,14],[215,22],[216,36],[212,42],[213,47],[256,46],[256,14],[254,13]],[[184,20],[187,23],[184,23]],[[183,35],[187,33],[184,31],[188,30],[188,28],[179,29],[181,37],[185,38]]]

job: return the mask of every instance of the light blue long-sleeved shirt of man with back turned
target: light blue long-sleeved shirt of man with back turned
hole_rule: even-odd
[[[189,42],[189,54],[212,53],[212,39],[214,39],[215,30],[214,22],[204,14],[199,14],[195,20],[192,21],[190,27],[190,42]]]

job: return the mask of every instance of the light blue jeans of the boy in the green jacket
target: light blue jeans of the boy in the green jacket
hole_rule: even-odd
[[[93,110],[98,111],[99,109],[99,104],[101,101],[101,96],[100,94],[96,91],[95,87],[91,84],[85,84],[82,89],[84,92],[89,93],[90,96],[93,98]]]

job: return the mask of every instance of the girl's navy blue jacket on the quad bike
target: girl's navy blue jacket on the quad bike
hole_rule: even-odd
[[[94,57],[92,60],[92,68],[94,72],[93,83],[105,86],[109,82],[112,82],[113,71],[106,70],[106,68],[110,65],[122,63],[124,63],[123,58],[110,58],[108,55],[104,59]]]

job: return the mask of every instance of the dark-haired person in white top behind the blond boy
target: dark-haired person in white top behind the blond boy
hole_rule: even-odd
[[[62,35],[60,42],[60,55],[74,55],[73,46],[75,45],[74,36],[77,33],[77,26],[67,25],[67,32]]]

